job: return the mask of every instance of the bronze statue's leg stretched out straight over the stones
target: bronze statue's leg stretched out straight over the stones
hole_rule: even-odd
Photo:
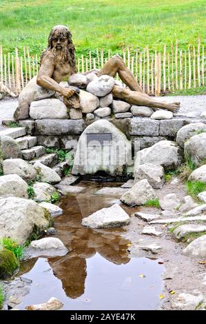
[[[131,105],[145,105],[150,108],[167,109],[170,110],[171,112],[177,112],[180,108],[179,102],[166,103],[163,101],[158,101],[153,97],[149,97],[149,96],[146,97],[145,94],[141,92],[125,89],[119,87],[118,85],[114,85],[112,94],[114,95],[115,98],[123,99],[127,101],[127,103],[130,103]]]

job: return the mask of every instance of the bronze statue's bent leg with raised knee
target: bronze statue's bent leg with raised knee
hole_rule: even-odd
[[[99,71],[98,77],[100,77],[103,74],[110,75],[110,77],[115,77],[116,73],[119,74],[120,79],[127,85],[131,90],[143,92],[140,85],[138,85],[134,75],[132,72],[126,67],[123,59],[119,55],[114,55],[114,57],[111,57],[103,68]],[[147,94],[145,94],[146,97]]]

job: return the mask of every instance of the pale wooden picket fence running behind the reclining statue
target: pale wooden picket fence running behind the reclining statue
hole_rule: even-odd
[[[187,50],[179,48],[176,41],[169,48],[164,45],[162,52],[150,50],[149,45],[143,51],[123,48],[121,56],[147,94],[159,96],[161,92],[198,88],[206,84],[205,50],[200,39],[196,45],[189,44]],[[110,57],[110,50],[88,51],[87,55],[76,58],[77,70],[100,69]],[[23,56],[19,56],[18,48],[15,54],[3,54],[0,45],[0,92],[18,95],[38,71],[39,56],[30,55],[29,48],[24,47]]]

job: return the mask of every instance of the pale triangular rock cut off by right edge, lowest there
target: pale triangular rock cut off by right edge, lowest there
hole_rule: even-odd
[[[198,239],[189,243],[183,250],[183,254],[195,256],[196,258],[206,257],[206,235],[198,237]]]

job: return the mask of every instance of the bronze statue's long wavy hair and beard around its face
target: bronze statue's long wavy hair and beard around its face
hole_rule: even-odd
[[[54,39],[56,33],[59,37],[67,37],[68,39],[68,47],[66,49],[61,50],[61,53],[56,52],[55,48],[52,48],[52,40]],[[72,71],[76,72],[76,60],[75,60],[75,48],[72,43],[72,33],[66,26],[57,25],[52,28],[50,35],[48,37],[48,48],[44,50],[41,54],[40,65],[43,62],[45,57],[50,57],[50,59],[56,61],[58,63],[68,63],[72,68]]]

